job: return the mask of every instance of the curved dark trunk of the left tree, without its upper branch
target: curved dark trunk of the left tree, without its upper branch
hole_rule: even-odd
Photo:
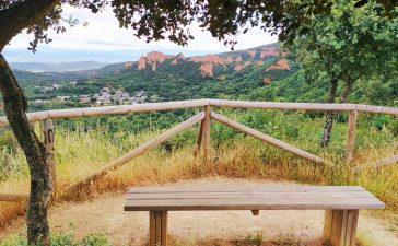
[[[30,245],[48,245],[47,206],[52,181],[45,145],[31,128],[25,112],[26,98],[4,57],[0,54],[0,91],[4,110],[14,136],[25,153],[31,172],[31,194],[27,204],[27,239]]]

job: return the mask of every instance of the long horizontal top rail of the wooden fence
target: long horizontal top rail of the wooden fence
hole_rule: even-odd
[[[398,116],[398,108],[383,107],[362,104],[320,104],[320,103],[274,103],[274,102],[250,102],[250,101],[226,101],[226,99],[192,99],[164,103],[148,103],[104,107],[82,107],[71,109],[56,109],[26,114],[31,122],[47,118],[65,119],[89,116],[120,115],[142,112],[175,110],[194,107],[236,107],[259,109],[286,109],[286,110],[318,110],[318,112],[363,112],[373,114],[387,114]],[[7,117],[0,117],[0,127],[8,126]]]

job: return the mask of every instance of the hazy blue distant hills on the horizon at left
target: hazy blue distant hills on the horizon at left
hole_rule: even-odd
[[[66,72],[101,69],[108,63],[97,61],[77,61],[67,63],[14,62],[11,68],[28,72]]]

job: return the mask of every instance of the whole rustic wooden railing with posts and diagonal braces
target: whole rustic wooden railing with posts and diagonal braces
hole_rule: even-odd
[[[290,110],[319,110],[319,112],[349,112],[349,122],[347,132],[347,143],[346,143],[346,160],[348,162],[352,161],[354,156],[354,143],[355,143],[355,129],[356,129],[356,118],[359,113],[373,113],[373,114],[388,114],[398,116],[398,108],[395,107],[382,107],[372,105],[359,105],[359,104],[318,104],[318,103],[273,103],[273,102],[247,102],[247,101],[225,101],[225,99],[194,99],[194,101],[179,101],[179,102],[165,102],[165,103],[149,103],[149,104],[137,104],[137,105],[120,105],[120,106],[104,106],[104,107],[86,107],[86,108],[73,108],[73,109],[58,109],[58,110],[47,110],[28,113],[27,118],[31,122],[42,121],[44,129],[44,139],[46,144],[46,151],[49,156],[50,173],[55,186],[57,186],[57,172],[56,162],[54,155],[54,119],[63,118],[77,118],[77,117],[89,117],[89,116],[104,116],[104,115],[117,115],[117,114],[131,114],[131,113],[142,113],[142,112],[157,112],[157,110],[174,110],[184,108],[198,108],[202,107],[203,112],[192,116],[186,121],[173,127],[172,129],[163,132],[156,138],[148,141],[147,143],[136,148],[134,150],[128,152],[124,156],[105,165],[96,174],[91,175],[77,184],[72,185],[66,191],[73,192],[84,187],[85,185],[92,183],[106,175],[107,173],[127,164],[132,159],[139,156],[140,154],[157,147],[162,142],[168,140],[173,136],[192,127],[194,125],[200,122],[199,133],[197,138],[197,145],[194,150],[194,155],[197,156],[200,153],[200,149],[203,149],[204,160],[209,160],[210,156],[210,124],[211,119],[214,119],[221,124],[239,130],[246,134],[253,136],[264,142],[270,143],[277,148],[289,151],[294,155],[297,155],[307,161],[325,164],[328,166],[333,166],[327,160],[319,156],[311,154],[304,150],[293,147],[286,142],[274,139],[268,134],[260,131],[251,129],[244,126],[237,121],[226,118],[215,112],[211,110],[211,107],[234,107],[234,108],[260,108],[260,109],[290,109]],[[0,117],[0,127],[9,126],[5,117]],[[363,166],[383,166],[398,162],[398,155],[394,155],[387,159],[383,159],[370,165]],[[354,167],[354,172],[359,172],[361,167]],[[0,201],[23,201],[27,197],[24,195],[0,195]]]

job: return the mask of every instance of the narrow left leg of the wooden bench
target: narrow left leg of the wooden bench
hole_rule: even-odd
[[[150,212],[149,246],[167,246],[167,211]]]

